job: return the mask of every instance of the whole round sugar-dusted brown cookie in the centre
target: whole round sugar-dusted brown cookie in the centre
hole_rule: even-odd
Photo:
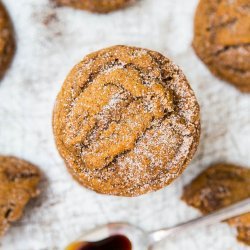
[[[80,183],[136,196],[168,185],[190,162],[200,135],[199,105],[169,59],[114,46],[86,56],[70,72],[53,128]]]

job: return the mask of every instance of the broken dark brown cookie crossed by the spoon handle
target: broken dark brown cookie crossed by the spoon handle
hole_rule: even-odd
[[[203,214],[250,197],[250,169],[215,164],[184,188],[182,199]],[[238,240],[250,245],[250,213],[228,220],[238,230]]]

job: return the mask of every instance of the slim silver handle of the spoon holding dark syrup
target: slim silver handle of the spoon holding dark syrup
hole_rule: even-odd
[[[150,244],[154,245],[155,243],[162,241],[163,239],[175,233],[193,229],[195,227],[209,226],[248,212],[250,212],[250,198],[220,209],[211,214],[178,224],[172,228],[153,231],[149,234]]]

